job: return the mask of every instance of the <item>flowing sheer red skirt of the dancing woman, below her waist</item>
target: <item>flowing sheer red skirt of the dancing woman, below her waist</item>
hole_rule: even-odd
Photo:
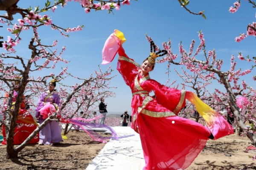
[[[153,112],[169,111],[156,102],[144,108]],[[210,130],[200,123],[178,116],[137,117],[145,159],[144,170],[185,169],[204,148]]]

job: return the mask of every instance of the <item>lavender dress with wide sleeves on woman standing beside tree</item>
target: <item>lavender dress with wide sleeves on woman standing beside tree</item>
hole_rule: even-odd
[[[45,119],[40,116],[39,110],[43,108],[47,102],[52,102],[57,107],[60,104],[60,97],[54,92],[50,94],[49,90],[41,95],[40,99],[38,100],[38,108],[35,110],[35,117],[39,117],[40,124],[43,123]],[[40,130],[39,143],[49,145],[50,143],[58,143],[61,141],[61,127],[58,125],[58,122],[51,121]]]

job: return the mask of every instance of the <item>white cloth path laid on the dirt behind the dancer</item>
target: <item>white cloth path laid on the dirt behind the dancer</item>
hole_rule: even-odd
[[[113,127],[113,129],[118,136],[131,134],[135,136],[111,139],[86,170],[142,170],[145,160],[140,135],[131,127]]]

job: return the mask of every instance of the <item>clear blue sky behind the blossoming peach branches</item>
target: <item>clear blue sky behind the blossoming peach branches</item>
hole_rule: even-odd
[[[20,0],[18,6],[21,8],[38,5],[43,7],[45,2],[46,0]],[[187,7],[194,12],[205,10],[204,13],[207,20],[201,16],[189,14],[179,5],[177,0],[131,0],[130,2],[130,6],[121,6],[120,11],[113,10],[114,14],[108,14],[108,11],[93,10],[86,14],[81,5],[76,2],[69,2],[64,8],[58,6],[54,13],[48,11],[47,14],[52,16],[53,23],[62,28],[73,28],[79,25],[84,25],[85,27],[83,31],[70,33],[70,38],[64,38],[58,31],[53,31],[50,27],[41,27],[39,35],[42,43],[50,45],[54,40],[58,40],[57,48],[60,50],[62,46],[66,46],[66,51],[62,57],[70,60],[70,63],[61,63],[54,70],[45,69],[31,75],[37,77],[51,72],[58,74],[61,67],[68,66],[68,72],[73,75],[81,78],[89,77],[94,70],[98,70],[98,65],[102,62],[103,45],[114,29],[118,29],[125,34],[127,41],[123,44],[123,47],[126,54],[138,63],[141,63],[150,51],[145,33],[152,37],[160,48],[161,43],[170,38],[172,40],[173,53],[179,54],[178,43],[180,41],[182,41],[186,51],[189,51],[189,45],[194,39],[196,41],[196,49],[199,45],[197,32],[202,30],[206,40],[207,51],[214,48],[217,58],[224,60],[223,71],[230,69],[231,55],[236,56],[236,61],[238,62],[236,70],[239,68],[244,70],[251,67],[250,63],[240,61],[237,56],[239,52],[242,52],[244,56],[254,57],[256,50],[255,38],[250,36],[239,43],[234,40],[240,33],[246,32],[247,24],[256,20],[256,11],[247,1],[241,1],[241,7],[235,14],[228,11],[235,0],[191,1]],[[19,18],[20,15],[16,14],[13,23],[17,22]],[[6,31],[5,25],[1,24],[1,26],[4,28],[0,28],[0,35],[7,38],[10,33]],[[29,58],[31,51],[27,46],[31,37],[31,30],[22,33],[22,40],[15,48],[17,55]],[[0,52],[2,53],[4,50],[1,48]],[[199,54],[197,59],[203,59],[202,54]],[[114,69],[113,75],[117,74],[111,81],[111,86],[117,87],[117,89],[113,89],[116,92],[116,97],[106,99],[105,102],[108,103],[109,113],[122,113],[124,110],[128,110],[131,113],[131,90],[125,85],[121,75],[116,71],[116,62],[117,57],[109,65],[100,65],[103,71],[111,65]],[[150,77],[165,84],[168,79],[168,76],[164,74],[167,68],[166,65],[167,63],[157,64]],[[177,80],[177,85],[182,80],[177,77],[175,71],[173,71],[174,68],[179,69],[180,66],[171,66],[169,78],[170,82]],[[253,73],[242,78],[253,88],[256,88],[256,85],[251,77],[255,73],[256,71],[254,70]],[[68,85],[76,83],[73,78],[67,78],[64,81],[63,83]],[[219,85],[214,81],[208,88],[209,91],[213,91],[215,88],[225,91],[223,85]]]

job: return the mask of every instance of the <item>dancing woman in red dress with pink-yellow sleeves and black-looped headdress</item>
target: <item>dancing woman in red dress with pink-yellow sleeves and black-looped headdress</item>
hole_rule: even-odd
[[[117,70],[133,96],[131,127],[140,133],[145,159],[143,170],[183,170],[194,161],[209,138],[218,139],[233,133],[233,127],[192,92],[168,88],[150,79],[156,57],[167,51],[155,53],[151,41],[150,56],[139,65],[125,54],[124,41],[122,32],[115,30],[111,34],[102,51],[102,64],[111,62],[118,52]],[[151,91],[155,98],[149,96]],[[208,127],[177,116],[185,106],[185,99],[195,105]]]

